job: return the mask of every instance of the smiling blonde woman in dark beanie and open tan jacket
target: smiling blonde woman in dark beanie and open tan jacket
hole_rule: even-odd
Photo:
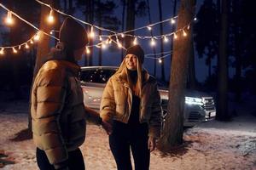
[[[102,122],[112,124],[109,146],[119,170],[148,170],[150,151],[160,137],[160,93],[157,82],[143,69],[144,52],[139,45],[128,48],[119,70],[102,94]]]

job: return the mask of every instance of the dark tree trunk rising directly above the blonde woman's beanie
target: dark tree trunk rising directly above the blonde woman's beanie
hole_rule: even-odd
[[[128,0],[126,7],[126,29],[133,30],[135,25],[135,0]],[[134,31],[130,31],[129,34],[134,35]],[[129,48],[132,45],[132,37],[125,37],[125,48]]]

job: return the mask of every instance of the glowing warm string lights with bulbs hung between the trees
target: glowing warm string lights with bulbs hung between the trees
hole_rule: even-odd
[[[92,39],[95,38],[95,37],[99,37],[99,42],[96,43],[96,44],[93,44],[93,45],[90,45],[90,46],[86,46],[86,54],[90,54],[90,48],[91,47],[96,47],[96,48],[102,48],[102,49],[105,49],[108,47],[109,44],[111,44],[112,42],[115,43],[117,45],[118,48],[124,48],[126,50],[125,47],[122,46],[122,44],[120,43],[119,41],[119,38],[124,38],[124,37],[134,37],[134,40],[133,40],[133,44],[137,44],[138,43],[138,40],[137,39],[150,39],[150,45],[151,46],[155,46],[156,45],[156,41],[157,40],[160,40],[160,39],[163,39],[164,42],[169,42],[169,39],[168,37],[173,37],[173,39],[177,39],[177,32],[178,31],[183,31],[183,37],[186,37],[187,36],[187,32],[185,31],[186,29],[189,30],[189,27],[190,27],[190,24],[187,25],[187,26],[184,26],[183,28],[177,30],[177,31],[173,31],[171,33],[167,33],[167,34],[164,34],[164,35],[160,35],[160,36],[136,36],[136,35],[131,35],[131,34],[128,34],[128,32],[131,32],[131,31],[137,31],[137,30],[141,30],[141,29],[145,29],[147,28],[148,31],[151,31],[152,30],[152,26],[155,26],[155,25],[158,25],[160,23],[164,23],[164,22],[167,22],[167,21],[170,21],[172,24],[175,24],[176,23],[176,19],[177,19],[177,16],[175,17],[172,17],[171,19],[167,19],[167,20],[162,20],[162,21],[159,21],[159,22],[156,22],[154,24],[151,24],[149,26],[142,26],[142,27],[139,27],[139,28],[136,28],[136,29],[133,29],[133,30],[129,30],[129,31],[124,31],[124,32],[116,32],[116,31],[111,31],[109,29],[105,29],[105,28],[102,28],[100,26],[94,26],[94,25],[91,25],[90,23],[87,23],[85,22],[84,20],[79,20],[78,18],[76,17],[73,17],[72,15],[69,15],[69,14],[65,14],[63,12],[61,12],[61,10],[58,10],[58,9],[55,9],[55,8],[52,8],[49,4],[46,4],[46,3],[43,3],[39,0],[36,0],[38,3],[41,3],[42,5],[45,5],[47,7],[50,8],[50,11],[49,11],[49,16],[47,18],[49,24],[52,24],[55,19],[54,19],[54,16],[53,16],[53,13],[54,12],[57,12],[59,14],[63,14],[63,15],[66,15],[68,17],[71,17],[73,18],[74,20],[78,20],[79,22],[85,24],[85,25],[88,25],[90,26],[90,33],[89,33],[89,37]],[[4,8],[5,10],[7,10],[8,14],[7,14],[7,17],[6,17],[6,20],[5,20],[5,23],[7,26],[11,26],[14,24],[14,20],[12,19],[12,15],[14,14],[18,19],[24,21],[27,25],[29,26],[32,26],[35,30],[37,30],[38,32],[32,36],[30,39],[28,39],[26,42],[22,42],[18,45],[15,45],[15,46],[8,46],[8,47],[0,47],[0,54],[4,54],[4,49],[7,49],[7,48],[12,48],[13,50],[13,53],[17,53],[17,48],[20,50],[20,48],[22,48],[24,46],[24,48],[28,49],[30,48],[29,45],[33,44],[34,42],[37,42],[39,41],[40,39],[40,34],[43,33],[44,35],[46,36],[49,36],[49,37],[52,37],[56,40],[59,41],[59,39],[57,37],[54,37],[52,34],[53,31],[50,31],[50,33],[47,33],[47,32],[44,32],[44,31],[40,31],[38,29],[37,26],[34,26],[32,25],[32,23],[30,23],[29,21],[23,19],[22,17],[20,17],[20,15],[18,14],[15,14],[13,11],[11,11],[9,8],[6,8],[2,3],[0,3],[0,6],[2,8]],[[194,19],[196,20],[196,19]],[[94,32],[94,28],[96,29],[100,29],[102,31],[108,31],[110,32],[111,34],[110,35],[99,35],[97,36]],[[105,40],[103,40],[103,38],[106,38]],[[169,56],[170,54],[172,54],[172,51],[170,52],[164,52],[164,53],[160,53],[160,54],[166,54],[162,57],[149,57],[149,56],[152,56],[152,55],[159,55],[159,54],[146,54],[145,57],[148,58],[148,59],[159,59],[159,62],[161,63],[161,59],[164,59],[166,58],[167,56]]]

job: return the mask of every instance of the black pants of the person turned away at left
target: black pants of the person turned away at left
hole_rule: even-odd
[[[44,150],[37,148],[37,161],[40,170],[54,170],[55,167],[51,165]],[[84,158],[80,149],[68,152],[68,168],[69,170],[84,170]]]

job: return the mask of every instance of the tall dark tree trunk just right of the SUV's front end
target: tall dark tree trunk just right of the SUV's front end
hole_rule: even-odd
[[[227,121],[228,114],[228,0],[221,1],[221,19],[218,54],[217,119]]]

